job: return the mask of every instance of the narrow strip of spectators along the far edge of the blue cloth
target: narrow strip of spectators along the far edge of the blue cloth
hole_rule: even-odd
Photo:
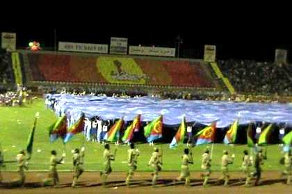
[[[92,95],[92,96],[113,96],[120,98],[138,98],[141,96],[152,96],[161,99],[185,99],[185,100],[225,100],[245,103],[291,103],[291,96],[281,96],[278,94],[235,94],[230,95],[227,92],[218,91],[197,91],[190,93],[189,91],[152,91],[152,92],[130,92],[127,90],[108,90],[102,91],[97,89],[79,89],[65,87],[46,87],[42,88],[44,94],[74,94],[74,95]]]

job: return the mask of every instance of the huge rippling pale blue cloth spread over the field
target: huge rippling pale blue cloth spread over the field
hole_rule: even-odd
[[[236,118],[239,118],[239,124],[254,121],[292,123],[291,104],[161,100],[148,96],[113,98],[70,94],[49,94],[47,98],[54,98],[56,114],[67,114],[72,123],[78,120],[81,112],[84,112],[88,118],[100,116],[104,120],[124,116],[124,121],[132,121],[138,112],[142,112],[142,121],[152,121],[163,113],[163,123],[167,125],[179,124],[184,114],[186,114],[186,122],[195,121],[209,125],[212,121],[218,121],[217,127],[227,127]]]

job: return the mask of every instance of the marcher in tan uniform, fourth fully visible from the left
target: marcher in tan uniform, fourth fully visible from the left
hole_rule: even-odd
[[[100,176],[102,177],[102,185],[106,186],[106,178],[113,171],[111,168],[111,161],[115,160],[115,153],[117,150],[115,149],[114,154],[110,150],[109,144],[104,145],[104,171],[100,172]]]

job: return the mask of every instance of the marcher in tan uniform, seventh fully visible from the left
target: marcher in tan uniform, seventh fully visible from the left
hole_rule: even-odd
[[[177,177],[177,181],[181,181],[181,179],[186,179],[185,185],[188,186],[190,184],[190,168],[188,164],[193,164],[193,156],[188,148],[184,149],[184,155],[181,157],[181,175]]]

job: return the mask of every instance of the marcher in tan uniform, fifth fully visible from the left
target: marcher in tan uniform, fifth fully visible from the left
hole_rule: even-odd
[[[129,172],[127,173],[126,178],[126,184],[127,186],[130,186],[131,177],[133,177],[134,172],[137,169],[137,159],[140,155],[140,152],[138,149],[135,150],[135,144],[130,144],[130,149],[128,150],[128,166],[129,166]]]

